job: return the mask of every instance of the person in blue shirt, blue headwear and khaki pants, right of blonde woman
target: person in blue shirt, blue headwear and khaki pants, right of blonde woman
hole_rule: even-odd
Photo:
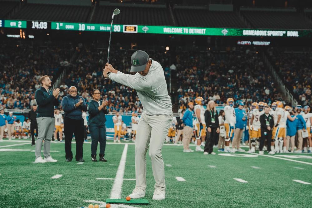
[[[244,102],[240,101],[238,104],[238,108],[235,108],[235,114],[236,114],[236,124],[235,124],[235,131],[234,131],[234,138],[232,141],[232,149],[233,151],[245,151],[242,148],[240,148],[241,144],[241,136],[243,134],[244,128],[247,123],[246,119],[246,111],[244,108]]]

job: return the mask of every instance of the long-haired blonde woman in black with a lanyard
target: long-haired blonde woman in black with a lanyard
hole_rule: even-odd
[[[215,108],[215,102],[210,100],[207,104],[207,109],[204,114],[205,123],[207,125],[207,139],[204,148],[204,155],[216,153],[213,152],[213,145],[217,145],[219,141],[219,118]]]

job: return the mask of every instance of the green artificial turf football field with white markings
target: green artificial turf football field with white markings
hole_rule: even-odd
[[[108,162],[91,162],[90,143],[83,147],[83,164],[74,160],[66,162],[64,143],[61,142],[51,143],[51,156],[59,162],[33,164],[35,153],[31,150],[35,147],[31,147],[29,140],[0,142],[0,207],[78,208],[89,204],[105,207],[105,200],[111,196],[119,193],[121,198],[128,196],[134,189],[135,180],[122,180],[122,184],[119,180],[114,186],[114,179],[117,170],[122,172],[123,168],[124,175],[119,171],[117,178],[135,178],[134,144],[108,141],[105,151]],[[195,149],[194,146],[191,148]],[[73,143],[74,155],[75,149]],[[147,158],[145,199],[150,204],[112,207],[312,207],[312,154],[283,153],[276,155],[284,157],[266,157],[246,152],[222,152],[232,155],[228,157],[218,155],[221,152],[217,149],[216,155],[182,150],[183,147],[177,145],[163,147],[165,200],[152,200],[155,181]],[[123,152],[126,158],[122,159]],[[278,159],[298,155],[304,158]],[[62,176],[51,179],[57,174]],[[185,181],[178,181],[176,177]]]

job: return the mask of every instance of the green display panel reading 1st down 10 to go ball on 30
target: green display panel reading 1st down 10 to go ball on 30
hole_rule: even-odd
[[[110,31],[110,24],[51,22],[52,30]],[[113,25],[113,32],[123,32],[123,25]]]

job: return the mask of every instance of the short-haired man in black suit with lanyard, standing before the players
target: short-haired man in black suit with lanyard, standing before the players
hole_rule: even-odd
[[[264,114],[260,116],[260,125],[261,125],[261,138],[259,146],[259,154],[264,154],[262,151],[264,146],[264,141],[266,140],[268,144],[268,152],[271,152],[271,138],[272,138],[272,128],[274,127],[273,116],[269,114],[270,108],[266,106],[264,108]]]

